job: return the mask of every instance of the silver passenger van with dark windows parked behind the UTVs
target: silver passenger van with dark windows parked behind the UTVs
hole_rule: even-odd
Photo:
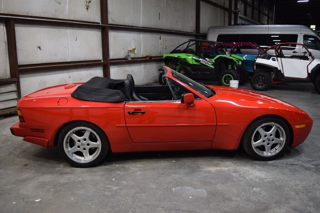
[[[261,48],[277,43],[305,44],[315,58],[320,58],[320,37],[314,30],[302,25],[244,25],[209,27],[207,40],[221,42],[256,42]],[[284,55],[303,55],[299,45],[282,48]]]

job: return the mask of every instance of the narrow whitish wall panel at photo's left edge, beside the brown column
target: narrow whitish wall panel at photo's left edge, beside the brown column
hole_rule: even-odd
[[[0,22],[0,79],[10,78],[7,35],[3,22]]]

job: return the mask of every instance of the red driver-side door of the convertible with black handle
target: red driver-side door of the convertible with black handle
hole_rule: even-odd
[[[126,102],[126,126],[133,143],[212,141],[214,108],[204,99],[195,107],[180,100]]]

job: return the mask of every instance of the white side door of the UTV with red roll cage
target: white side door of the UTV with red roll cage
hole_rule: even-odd
[[[300,46],[300,55],[292,55],[291,57],[286,57],[286,58],[278,57],[280,69],[283,72],[285,77],[292,77],[292,78],[308,77],[307,67],[308,67],[308,64],[310,63],[308,59],[308,52],[302,45],[299,45],[299,46]],[[280,49],[281,49],[281,46],[280,46]],[[304,59],[307,59],[307,60],[304,60]]]

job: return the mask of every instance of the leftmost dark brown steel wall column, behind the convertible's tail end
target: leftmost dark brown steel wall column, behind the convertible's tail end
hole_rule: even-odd
[[[11,78],[17,78],[18,98],[20,99],[21,98],[21,90],[20,90],[20,78],[19,78],[19,70],[18,70],[16,32],[15,32],[15,28],[14,28],[14,21],[13,20],[6,20],[5,21],[5,29],[7,31],[10,77]]]

